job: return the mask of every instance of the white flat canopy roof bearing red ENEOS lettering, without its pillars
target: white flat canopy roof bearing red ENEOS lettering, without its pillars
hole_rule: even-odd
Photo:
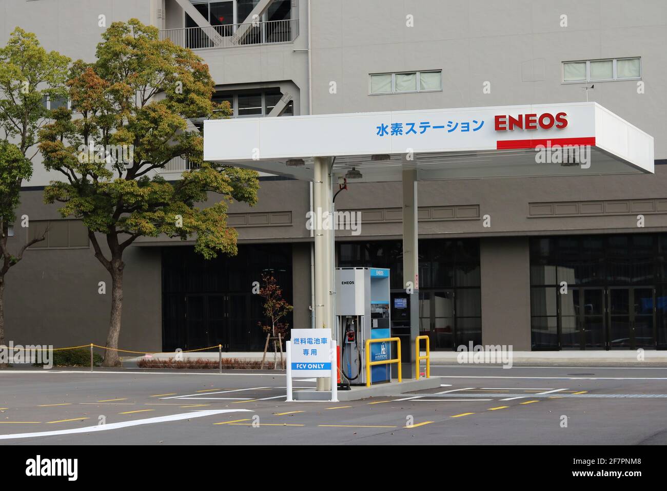
[[[590,165],[537,163],[536,148],[586,146]],[[236,118],[204,122],[204,160],[313,180],[336,157],[358,182],[652,173],[652,136],[596,102]]]

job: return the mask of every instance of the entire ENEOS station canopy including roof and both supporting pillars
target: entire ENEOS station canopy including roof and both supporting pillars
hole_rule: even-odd
[[[312,209],[325,216],[337,176],[402,182],[403,284],[411,305],[419,302],[417,181],[654,172],[652,136],[595,102],[209,120],[204,160],[310,180]],[[315,230],[313,242],[315,327],[337,339],[343,285],[334,273],[333,228]],[[404,330],[401,363],[408,378],[418,378],[416,308]],[[317,390],[327,390],[325,379]]]

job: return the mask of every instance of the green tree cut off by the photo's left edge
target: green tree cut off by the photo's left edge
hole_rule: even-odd
[[[33,173],[37,133],[51,114],[44,101],[64,96],[68,65],[69,58],[47,52],[20,27],[0,48],[0,345],[5,343],[5,276],[28,247],[45,238],[43,230],[13,254],[7,249],[9,226],[16,220],[21,183]]]

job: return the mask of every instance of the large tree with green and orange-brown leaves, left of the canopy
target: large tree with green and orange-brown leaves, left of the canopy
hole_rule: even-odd
[[[45,189],[45,202],[63,203],[63,217],[83,220],[95,257],[111,276],[104,365],[114,366],[123,251],[141,236],[186,240],[196,234],[195,251],[205,258],[235,255],[237,232],[226,225],[227,206],[233,200],[255,204],[259,183],[255,171],[202,161],[203,138],[187,118],[208,118],[217,106],[201,58],[160,41],[156,27],[137,19],[111,24],[102,38],[97,61],[73,63],[71,110],[55,112],[40,132],[39,148],[45,167],[64,176]],[[229,113],[228,105],[222,109]],[[192,169],[166,181],[155,170],[176,157],[187,158]],[[197,206],[209,193],[219,201]]]

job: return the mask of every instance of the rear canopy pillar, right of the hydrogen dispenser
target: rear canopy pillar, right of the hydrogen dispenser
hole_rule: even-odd
[[[403,349],[403,376],[416,378],[416,337],[419,335],[419,242],[417,170],[403,170],[403,285],[410,297],[410,350]]]

